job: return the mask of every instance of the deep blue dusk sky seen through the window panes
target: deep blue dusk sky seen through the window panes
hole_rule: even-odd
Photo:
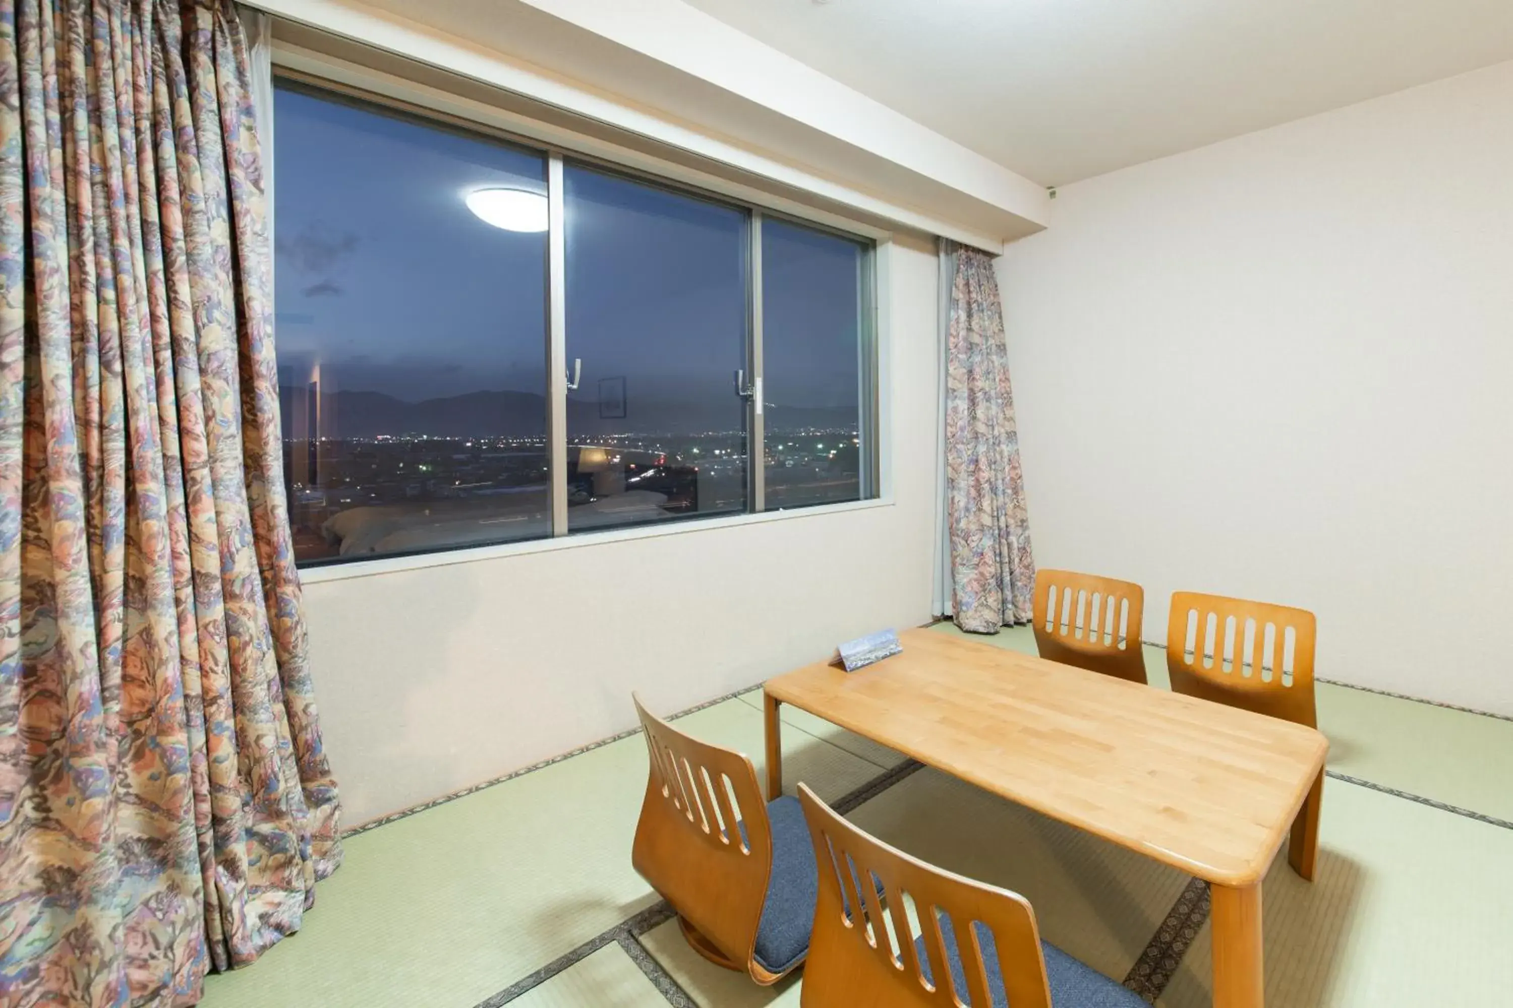
[[[410,402],[545,385],[546,234],[502,231],[474,189],[546,192],[540,154],[277,89],[277,349],[283,381]],[[567,358],[583,391],[740,426],[746,215],[572,163]],[[767,402],[856,408],[861,246],[769,221]],[[723,425],[723,426],[722,426]]]

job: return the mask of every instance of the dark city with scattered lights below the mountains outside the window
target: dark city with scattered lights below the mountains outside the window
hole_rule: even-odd
[[[286,416],[289,402],[284,404]],[[859,497],[856,431],[769,432],[767,508]],[[315,450],[319,481],[300,472]],[[551,532],[542,438],[375,435],[286,440],[290,523],[301,561],[480,546]],[[587,462],[584,462],[587,459]],[[598,473],[623,490],[604,493]],[[744,435],[605,435],[567,449],[572,527],[738,514]],[[619,478],[623,473],[623,478]],[[301,479],[304,476],[304,479]]]

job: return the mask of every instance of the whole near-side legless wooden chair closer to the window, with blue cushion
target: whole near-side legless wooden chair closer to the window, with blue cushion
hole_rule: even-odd
[[[741,753],[699,742],[634,697],[651,774],[631,863],[678,911],[699,955],[758,984],[803,961],[817,873],[803,810],[764,802]]]

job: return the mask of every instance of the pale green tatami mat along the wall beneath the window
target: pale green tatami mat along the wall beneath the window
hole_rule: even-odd
[[[678,725],[752,756],[763,718],[738,700]],[[838,798],[879,768],[784,733],[788,787]],[[207,1008],[472,1008],[655,902],[631,867],[646,744],[631,736],[346,840],[304,929],[253,969],[212,976]]]

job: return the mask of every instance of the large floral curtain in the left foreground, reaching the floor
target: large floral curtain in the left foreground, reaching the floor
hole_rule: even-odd
[[[340,861],[228,0],[0,0],[0,1003],[186,1005]]]

